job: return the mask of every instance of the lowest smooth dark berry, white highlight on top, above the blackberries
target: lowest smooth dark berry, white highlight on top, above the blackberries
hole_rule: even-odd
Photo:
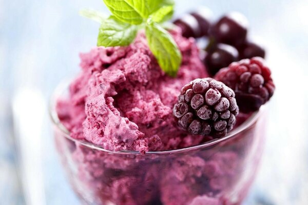
[[[208,73],[214,76],[221,68],[227,67],[230,63],[238,60],[238,51],[236,48],[217,44],[209,48],[204,58],[204,64]]]

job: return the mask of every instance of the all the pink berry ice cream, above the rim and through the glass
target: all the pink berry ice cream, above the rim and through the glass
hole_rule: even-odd
[[[256,122],[209,148],[147,154],[211,139],[181,130],[172,114],[183,85],[207,77],[195,40],[179,31],[172,36],[183,56],[176,78],[161,71],[139,33],[128,47],[81,54],[82,72],[70,84],[69,96],[57,101],[57,114],[72,138],[142,153],[93,149],[58,130],[63,164],[75,192],[88,204],[240,204],[251,185],[263,146]],[[240,122],[249,116],[240,114]]]

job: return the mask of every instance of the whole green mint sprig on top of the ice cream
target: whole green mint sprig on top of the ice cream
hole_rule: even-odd
[[[112,15],[103,18],[98,12],[86,12],[83,16],[101,23],[98,46],[127,46],[145,29],[148,45],[161,69],[176,76],[181,65],[181,52],[160,24],[174,13],[173,0],[103,0]],[[99,16],[96,16],[98,15]]]

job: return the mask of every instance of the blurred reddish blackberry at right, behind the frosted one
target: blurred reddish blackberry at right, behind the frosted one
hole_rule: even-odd
[[[215,79],[234,90],[241,112],[258,110],[275,91],[271,71],[260,57],[234,62],[221,69]]]

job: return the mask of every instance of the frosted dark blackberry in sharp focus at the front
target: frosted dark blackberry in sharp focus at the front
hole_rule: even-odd
[[[232,130],[239,108],[232,89],[213,78],[198,78],[182,88],[173,111],[181,129],[219,138]]]

